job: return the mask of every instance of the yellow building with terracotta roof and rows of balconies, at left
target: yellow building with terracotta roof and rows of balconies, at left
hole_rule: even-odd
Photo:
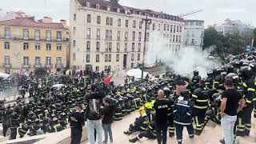
[[[39,67],[54,72],[66,67],[69,38],[66,21],[16,18],[0,22],[1,71],[16,73]]]

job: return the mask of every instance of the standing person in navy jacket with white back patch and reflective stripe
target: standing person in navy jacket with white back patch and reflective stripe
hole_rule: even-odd
[[[193,103],[190,102],[190,91],[182,90],[181,96],[174,103],[174,123],[176,128],[176,136],[178,144],[182,144],[182,131],[186,126],[190,138],[194,138],[193,128]]]

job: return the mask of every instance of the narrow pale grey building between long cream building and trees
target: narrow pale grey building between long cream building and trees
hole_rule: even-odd
[[[184,46],[202,50],[204,29],[202,20],[185,20]]]

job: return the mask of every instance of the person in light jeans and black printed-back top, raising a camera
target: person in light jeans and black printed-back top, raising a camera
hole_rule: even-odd
[[[88,139],[90,144],[95,144],[94,130],[96,130],[96,137],[98,144],[102,144],[102,94],[101,90],[98,90],[95,84],[90,86],[90,93],[86,94],[87,108],[87,130]]]

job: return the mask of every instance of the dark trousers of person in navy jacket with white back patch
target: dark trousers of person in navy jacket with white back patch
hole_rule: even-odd
[[[186,130],[188,131],[190,136],[194,135],[194,127],[192,123],[190,125],[180,125],[176,123],[175,130],[176,130],[176,137],[178,142],[182,142],[182,131],[184,126],[186,126]]]

